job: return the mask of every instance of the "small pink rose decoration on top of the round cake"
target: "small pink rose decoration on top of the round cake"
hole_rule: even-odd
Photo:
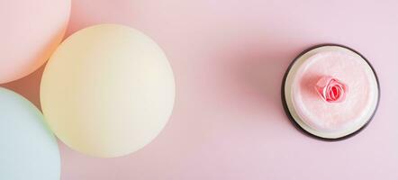
[[[315,89],[321,98],[328,103],[339,103],[346,99],[347,85],[332,76],[322,76],[316,83]]]

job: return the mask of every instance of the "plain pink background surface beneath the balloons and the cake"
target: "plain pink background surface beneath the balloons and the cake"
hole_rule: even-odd
[[[396,1],[76,0],[68,35],[96,23],[144,31],[176,76],[170,121],[126,157],[86,157],[59,142],[62,180],[397,179]],[[292,59],[335,42],[374,65],[382,99],[357,136],[324,142],[285,116],[280,85]],[[2,85],[39,103],[41,71]]]

